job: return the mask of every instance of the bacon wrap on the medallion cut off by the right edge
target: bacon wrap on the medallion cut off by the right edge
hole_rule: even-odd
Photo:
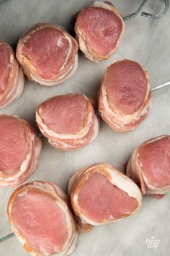
[[[153,140],[148,140],[146,142],[144,142],[142,145],[146,145],[149,144],[151,142],[154,142],[156,140],[160,140],[162,138],[166,137],[166,135],[162,135],[159,137],[155,137],[153,138]],[[140,148],[140,146],[138,147]],[[141,177],[143,179],[143,183],[146,189],[146,194],[158,194],[158,195],[164,195],[167,192],[170,192],[170,184],[164,186],[164,187],[155,187],[153,185],[151,185],[143,171],[143,164],[140,161],[140,156],[138,154],[138,148],[135,149],[135,151],[133,152],[133,155],[130,158],[129,161],[129,165],[128,165],[128,176],[131,176],[131,174],[133,172],[135,172],[136,168],[138,168],[138,172],[139,174],[141,174]],[[145,193],[144,193],[145,194]]]

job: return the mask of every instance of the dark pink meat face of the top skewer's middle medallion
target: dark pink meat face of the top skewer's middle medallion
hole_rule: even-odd
[[[31,59],[41,77],[48,79],[61,69],[68,49],[68,40],[60,30],[44,27],[28,38],[22,52]]]

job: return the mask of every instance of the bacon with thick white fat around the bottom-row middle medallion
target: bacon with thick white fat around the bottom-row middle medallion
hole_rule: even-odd
[[[74,182],[76,181],[76,179],[80,179],[81,174],[84,174],[84,172],[86,172],[86,175],[88,176],[88,172],[91,171],[96,166],[103,168],[103,170],[106,172],[107,179],[108,179],[107,174],[111,176],[111,179],[109,179],[109,182],[111,182],[116,187],[119,187],[120,189],[122,189],[122,191],[126,192],[130,197],[133,197],[138,201],[138,208],[135,209],[135,211],[133,211],[133,213],[135,213],[142,204],[142,195],[141,195],[140,189],[135,184],[135,182],[133,182],[130,178],[128,178],[128,176],[125,176],[120,171],[117,171],[113,166],[110,166],[108,163],[97,163],[97,164],[94,164],[93,166],[90,166],[89,168],[82,169],[81,171],[78,171],[75,174],[73,174],[73,176],[71,177],[68,183],[68,195],[71,194],[71,189],[74,186]],[[97,173],[100,173],[100,171],[97,170]],[[101,172],[101,174],[104,175],[103,172]],[[83,211],[81,211],[81,208],[79,207],[78,197],[79,197],[79,192],[77,192],[76,195],[75,194],[73,195],[73,202],[76,205],[76,211],[77,210],[79,211],[79,218],[81,219],[82,223],[89,223],[93,226],[98,226],[104,223],[120,221],[122,218],[125,218],[124,216],[122,216],[122,218],[115,219],[113,216],[110,216],[110,219],[108,221],[104,221],[102,223],[91,221],[91,219],[89,219],[83,213]],[[130,214],[133,214],[133,213],[130,213]]]

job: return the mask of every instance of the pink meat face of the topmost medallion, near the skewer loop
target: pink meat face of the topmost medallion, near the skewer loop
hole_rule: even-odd
[[[122,33],[120,17],[101,7],[85,8],[78,15],[76,23],[91,50],[102,56],[116,47]]]

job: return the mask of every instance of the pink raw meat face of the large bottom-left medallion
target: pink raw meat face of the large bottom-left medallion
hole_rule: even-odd
[[[61,247],[66,242],[66,219],[52,196],[29,189],[15,198],[11,214],[19,234],[41,255],[53,255],[54,244]]]

